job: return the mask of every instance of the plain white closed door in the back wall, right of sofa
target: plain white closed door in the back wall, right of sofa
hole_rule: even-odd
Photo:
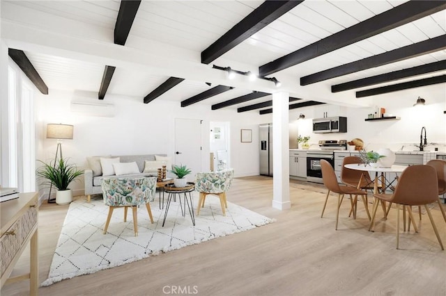
[[[186,176],[194,181],[201,172],[201,120],[175,119],[175,165],[187,165],[192,170]]]

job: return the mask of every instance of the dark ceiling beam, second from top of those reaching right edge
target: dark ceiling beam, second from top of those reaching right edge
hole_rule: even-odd
[[[300,85],[309,85],[319,81],[325,81],[334,77],[399,62],[400,60],[406,60],[408,58],[415,58],[423,54],[430,54],[431,52],[440,51],[443,49],[446,49],[446,35],[440,35],[436,38],[410,44],[406,47],[387,51],[383,54],[369,56],[368,58],[363,58],[362,60],[356,60],[355,62],[303,76],[300,78]]]

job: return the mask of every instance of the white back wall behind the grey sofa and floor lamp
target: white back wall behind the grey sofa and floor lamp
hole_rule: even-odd
[[[114,104],[114,117],[82,115],[70,110],[73,93],[50,90],[36,94],[36,156],[54,160],[56,140],[46,139],[46,124],[73,124],[73,140],[63,141],[63,157],[84,168],[87,156],[165,153],[174,156],[174,119],[203,120],[202,169],[209,168],[209,122],[231,122],[231,166],[235,176],[259,174],[258,112],[237,113],[236,110],[210,110],[210,106],[180,107],[178,101],[152,101],[142,98],[107,95],[104,102]],[[97,102],[98,100],[95,99]],[[240,142],[240,129],[252,129],[253,141]],[[82,182],[72,183],[75,195],[82,194]],[[82,190],[82,191],[81,191]]]

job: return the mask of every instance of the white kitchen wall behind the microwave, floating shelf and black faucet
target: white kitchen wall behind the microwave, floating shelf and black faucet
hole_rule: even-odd
[[[418,97],[426,100],[426,105],[413,107]],[[310,144],[316,147],[318,140],[352,140],[361,138],[367,149],[388,147],[392,150],[417,149],[413,144],[420,143],[422,126],[426,127],[428,142],[438,145],[428,146],[427,150],[438,147],[446,151],[446,88],[445,84],[429,85],[422,88],[413,88],[399,92],[390,92],[369,98],[370,108],[346,108],[348,118],[347,133],[312,133],[312,118],[314,107],[305,107],[290,110],[290,122],[299,126],[301,135],[309,135]],[[369,113],[374,112],[374,106],[386,109],[401,120],[385,120],[380,122],[366,122]],[[305,114],[305,120],[297,120],[300,113]],[[312,147],[312,148],[313,148]]]

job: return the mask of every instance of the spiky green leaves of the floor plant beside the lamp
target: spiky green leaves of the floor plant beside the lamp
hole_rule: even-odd
[[[44,185],[52,184],[57,190],[67,190],[72,181],[84,174],[83,170],[77,170],[76,165],[68,165],[63,158],[56,164],[43,161],[40,163],[43,163],[43,166],[36,171],[37,176],[47,180],[43,182]]]

